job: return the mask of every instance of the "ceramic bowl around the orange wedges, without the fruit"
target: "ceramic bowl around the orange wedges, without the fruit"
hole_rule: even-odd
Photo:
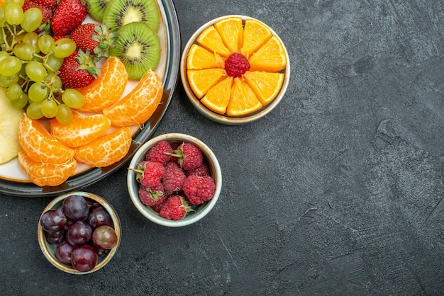
[[[255,18],[251,18],[249,16],[238,16],[238,15],[233,15],[233,16],[237,16],[237,17],[242,18],[244,23],[245,23],[245,20],[248,19],[248,18],[249,19],[253,19],[255,21],[259,21],[259,20],[255,19]],[[219,113],[213,112],[209,108],[206,108],[206,106],[204,106],[204,104],[202,104],[200,102],[199,98],[196,97],[196,95],[194,94],[194,92],[192,91],[192,89],[191,89],[191,87],[189,86],[189,83],[188,83],[188,78],[187,78],[187,57],[188,57],[188,52],[189,52],[190,48],[192,47],[192,45],[196,43],[196,40],[199,37],[199,35],[206,28],[208,28],[209,26],[213,25],[217,21],[220,21],[223,18],[230,18],[230,17],[233,17],[233,16],[221,16],[221,17],[218,17],[218,18],[214,18],[213,20],[209,21],[208,23],[205,23],[204,25],[202,25],[198,30],[196,30],[196,32],[194,32],[194,34],[191,36],[191,38],[189,38],[187,44],[184,47],[184,51],[182,53],[182,57],[181,57],[181,60],[180,60],[180,76],[181,76],[181,79],[182,79],[182,85],[184,86],[184,90],[185,90],[185,93],[187,93],[189,101],[191,101],[193,106],[197,110],[199,110],[200,113],[205,115],[207,118],[215,121],[216,123],[221,123],[221,124],[224,124],[224,125],[244,125],[244,124],[247,124],[247,123],[252,123],[253,121],[258,120],[258,119],[264,117],[265,115],[270,113],[279,104],[280,101],[282,101],[282,98],[284,97],[285,92],[287,91],[287,88],[288,88],[288,85],[289,85],[289,81],[290,81],[290,59],[289,59],[289,54],[287,52],[287,48],[285,47],[284,42],[282,42],[282,39],[279,38],[279,35],[277,35],[277,33],[274,32],[274,30],[272,30],[272,28],[270,28],[270,26],[268,26],[267,24],[265,24],[262,21],[260,21],[261,23],[266,25],[267,28],[269,28],[271,30],[272,34],[277,37],[277,39],[282,43],[282,47],[284,47],[285,56],[287,57],[287,67],[282,71],[285,74],[285,76],[284,76],[284,82],[282,83],[281,90],[277,94],[276,98],[274,98],[273,101],[268,103],[267,106],[264,106],[260,110],[257,110],[257,112],[255,112],[255,113],[251,113],[249,115],[245,115],[245,116],[242,116],[242,117],[231,117],[231,116],[228,116],[228,115],[223,115],[223,114],[219,114]]]

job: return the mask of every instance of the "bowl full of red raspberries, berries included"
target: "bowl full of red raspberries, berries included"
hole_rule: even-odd
[[[159,135],[143,144],[128,167],[128,192],[157,224],[182,227],[201,220],[221,193],[222,173],[211,149],[190,135]]]

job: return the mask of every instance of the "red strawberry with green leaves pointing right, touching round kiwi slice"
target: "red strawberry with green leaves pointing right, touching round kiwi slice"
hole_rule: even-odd
[[[106,25],[84,23],[71,32],[70,38],[76,42],[77,48],[101,57],[109,56],[109,49],[117,39],[117,34],[110,32]]]

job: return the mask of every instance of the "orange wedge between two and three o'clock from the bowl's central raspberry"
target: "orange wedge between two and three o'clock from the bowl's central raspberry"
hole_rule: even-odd
[[[272,36],[249,59],[250,71],[279,72],[287,66],[284,47],[276,36]]]

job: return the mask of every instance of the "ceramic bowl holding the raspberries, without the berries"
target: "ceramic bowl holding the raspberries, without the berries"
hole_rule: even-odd
[[[152,207],[144,205],[140,201],[138,195],[140,183],[136,180],[135,178],[136,174],[134,171],[132,171],[132,169],[135,169],[137,167],[137,164],[145,159],[145,154],[155,143],[160,142],[162,140],[166,140],[167,142],[178,142],[178,143],[189,142],[199,147],[202,151],[202,154],[204,155],[204,161],[206,161],[206,164],[208,164],[209,166],[211,176],[213,177],[214,182],[216,183],[216,192],[214,193],[214,197],[211,200],[207,201],[206,203],[195,207],[194,212],[189,212],[187,216],[184,217],[182,220],[168,220],[165,219],[164,217],[161,217],[158,212],[152,209]],[[143,144],[140,148],[138,148],[138,151],[135,152],[133,159],[131,159],[131,162],[128,167],[127,184],[128,184],[128,192],[130,194],[131,200],[133,201],[133,204],[142,215],[148,218],[148,220],[160,224],[162,226],[182,227],[189,224],[193,224],[201,220],[203,217],[205,217],[205,215],[207,215],[211,211],[214,205],[216,205],[219,194],[221,193],[222,173],[221,173],[221,167],[219,166],[216,156],[213,154],[211,149],[209,149],[209,147],[206,146],[206,144],[204,144],[204,142],[201,142],[201,140],[198,140],[190,135],[170,133],[154,137],[145,144]]]

